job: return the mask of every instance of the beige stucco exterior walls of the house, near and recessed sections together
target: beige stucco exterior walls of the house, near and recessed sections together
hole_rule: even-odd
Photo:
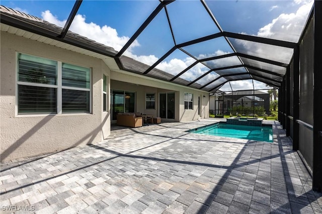
[[[99,142],[110,135],[110,89],[136,92],[136,111],[159,116],[159,93],[175,93],[174,121],[209,117],[209,93],[116,69],[114,60],[48,45],[1,32],[0,161],[26,158]],[[90,114],[17,115],[17,53],[89,67],[92,70]],[[103,59],[103,58],[102,58]],[[112,63],[112,64],[111,64]],[[107,65],[108,64],[108,65]],[[111,64],[111,65],[109,65]],[[113,68],[110,71],[109,67]],[[107,76],[107,111],[103,112],[103,74]],[[113,82],[120,81],[118,84]],[[145,94],[156,93],[155,109],[145,109]],[[184,93],[193,93],[193,110],[184,109]],[[198,96],[201,110],[198,115]]]

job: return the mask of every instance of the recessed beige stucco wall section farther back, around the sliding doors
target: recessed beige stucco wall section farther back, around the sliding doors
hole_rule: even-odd
[[[136,111],[145,114],[159,116],[158,101],[155,110],[145,109],[145,93],[175,92],[175,121],[197,120],[198,115],[198,96],[201,98],[201,118],[209,117],[209,93],[192,88],[168,83],[166,81],[156,80],[149,77],[133,74],[126,71],[111,71],[111,88],[118,90],[128,90],[137,92]],[[184,93],[193,93],[193,110],[185,110]],[[203,97],[205,96],[205,97]]]

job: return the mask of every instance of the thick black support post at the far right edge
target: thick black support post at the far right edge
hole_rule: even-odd
[[[322,1],[314,1],[313,190],[322,191]]]

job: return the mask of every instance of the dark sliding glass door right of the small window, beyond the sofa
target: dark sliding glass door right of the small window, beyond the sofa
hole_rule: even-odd
[[[160,118],[175,119],[175,93],[161,93],[159,109]]]

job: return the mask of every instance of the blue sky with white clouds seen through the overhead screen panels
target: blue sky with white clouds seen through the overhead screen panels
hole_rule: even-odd
[[[312,0],[290,1],[207,1],[209,9],[227,32],[261,36],[278,40],[297,42],[303,25],[312,8]],[[159,4],[150,1],[83,1],[70,31],[88,37],[116,51],[127,43],[138,27]],[[74,1],[6,1],[1,5],[39,17],[63,27],[74,5]],[[124,55],[147,65],[154,64],[175,44],[219,32],[219,29],[206,13],[200,1],[175,1],[167,6],[174,39],[163,9],[148,27],[126,50]],[[248,41],[229,39],[237,52],[288,63],[292,50],[276,49],[269,45],[259,45]],[[209,40],[183,48],[198,59],[233,53],[223,38]],[[180,50],[176,50],[157,69],[176,75],[195,60]],[[208,62],[210,67],[240,64],[235,58]],[[198,63],[181,78],[191,81],[209,71]],[[205,83],[218,77],[214,72],[197,83]],[[266,84],[254,81],[257,88]],[[229,85],[229,84],[228,84]],[[233,90],[253,88],[252,81],[231,81]],[[226,89],[227,88],[227,89]],[[225,84],[222,90],[231,90]]]

